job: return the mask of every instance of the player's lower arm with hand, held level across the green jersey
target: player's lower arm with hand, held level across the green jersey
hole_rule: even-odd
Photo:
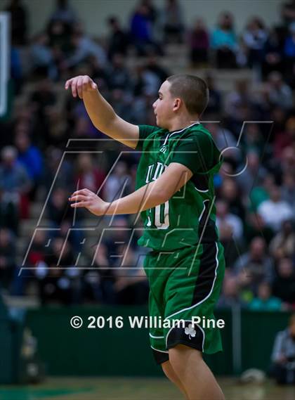
[[[190,169],[171,162],[158,179],[114,202],[105,202],[88,189],[74,192],[69,200],[72,207],[85,207],[96,215],[137,214],[169,200],[191,177]]]

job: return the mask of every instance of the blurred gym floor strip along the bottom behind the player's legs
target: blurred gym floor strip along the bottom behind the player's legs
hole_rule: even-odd
[[[227,400],[294,400],[295,386],[239,385],[218,380]],[[0,386],[0,400],[181,400],[177,389],[162,378],[48,378],[29,386]]]

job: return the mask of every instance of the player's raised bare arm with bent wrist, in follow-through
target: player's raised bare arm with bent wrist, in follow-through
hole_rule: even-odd
[[[139,137],[137,125],[122,120],[114,112],[112,105],[98,91],[98,86],[91,77],[81,75],[65,82],[65,89],[72,89],[74,97],[83,99],[93,125],[107,136],[120,141],[126,146],[136,148]]]

